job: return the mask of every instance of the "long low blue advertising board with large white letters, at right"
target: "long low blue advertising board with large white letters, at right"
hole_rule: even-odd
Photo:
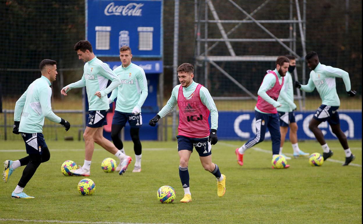
[[[309,130],[309,122],[315,111],[295,112],[295,120],[298,125],[298,139],[315,139],[313,132]],[[362,111],[339,110],[340,127],[348,139],[362,139]],[[337,139],[330,125],[323,122],[318,126],[325,139]],[[218,138],[219,139],[249,139],[256,134],[254,111],[219,112]],[[271,135],[266,132],[265,138]],[[289,139],[289,133],[286,135]]]

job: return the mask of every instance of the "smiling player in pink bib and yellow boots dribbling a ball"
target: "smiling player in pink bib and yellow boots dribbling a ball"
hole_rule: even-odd
[[[160,118],[170,113],[176,104],[179,107],[178,127],[178,154],[179,177],[184,189],[184,197],[180,202],[192,201],[189,190],[188,162],[193,147],[199,154],[199,159],[205,170],[217,178],[217,195],[222,197],[225,193],[225,175],[221,174],[217,164],[212,163],[211,144],[216,144],[218,111],[208,89],[193,81],[194,68],[189,63],[181,64],[178,69],[180,85],[174,87],[167,104],[149,121],[155,126]],[[212,128],[209,131],[209,111],[211,113]]]

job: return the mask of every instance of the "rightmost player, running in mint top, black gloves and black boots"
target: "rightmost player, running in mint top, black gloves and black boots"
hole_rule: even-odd
[[[333,155],[333,152],[325,142],[324,135],[318,128],[318,125],[327,121],[331,130],[338,137],[340,144],[343,146],[346,155],[343,166],[347,166],[355,159],[355,156],[350,151],[347,137],[340,129],[338,113],[340,100],[337,94],[335,78],[338,77],[343,79],[346,91],[351,97],[355,96],[356,91],[351,90],[349,74],[346,71],[321,64],[316,52],[312,51],[306,54],[305,60],[307,66],[311,69],[309,81],[307,82],[307,85],[301,85],[298,81],[295,81],[295,87],[306,92],[312,92],[316,87],[320,98],[323,101],[322,105],[314,114],[313,119],[311,119],[309,129],[314,133],[318,142],[321,144],[323,148],[323,158],[326,160]]]

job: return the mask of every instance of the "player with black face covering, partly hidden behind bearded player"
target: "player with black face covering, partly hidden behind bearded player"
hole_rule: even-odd
[[[299,156],[307,156],[309,153],[305,153],[300,150],[297,143],[297,123],[295,121],[296,105],[294,103],[294,87],[291,74],[294,72],[296,66],[295,57],[292,55],[285,55],[289,59],[289,70],[286,72],[285,82],[281,88],[280,95],[278,96],[277,102],[281,104],[281,107],[277,107],[277,113],[280,117],[280,133],[281,133],[281,143],[280,143],[280,155],[283,155],[286,159],[291,159],[290,157],[282,154],[282,147],[284,146],[285,137],[287,131],[290,127],[290,142],[293,147],[293,156],[298,158]]]

